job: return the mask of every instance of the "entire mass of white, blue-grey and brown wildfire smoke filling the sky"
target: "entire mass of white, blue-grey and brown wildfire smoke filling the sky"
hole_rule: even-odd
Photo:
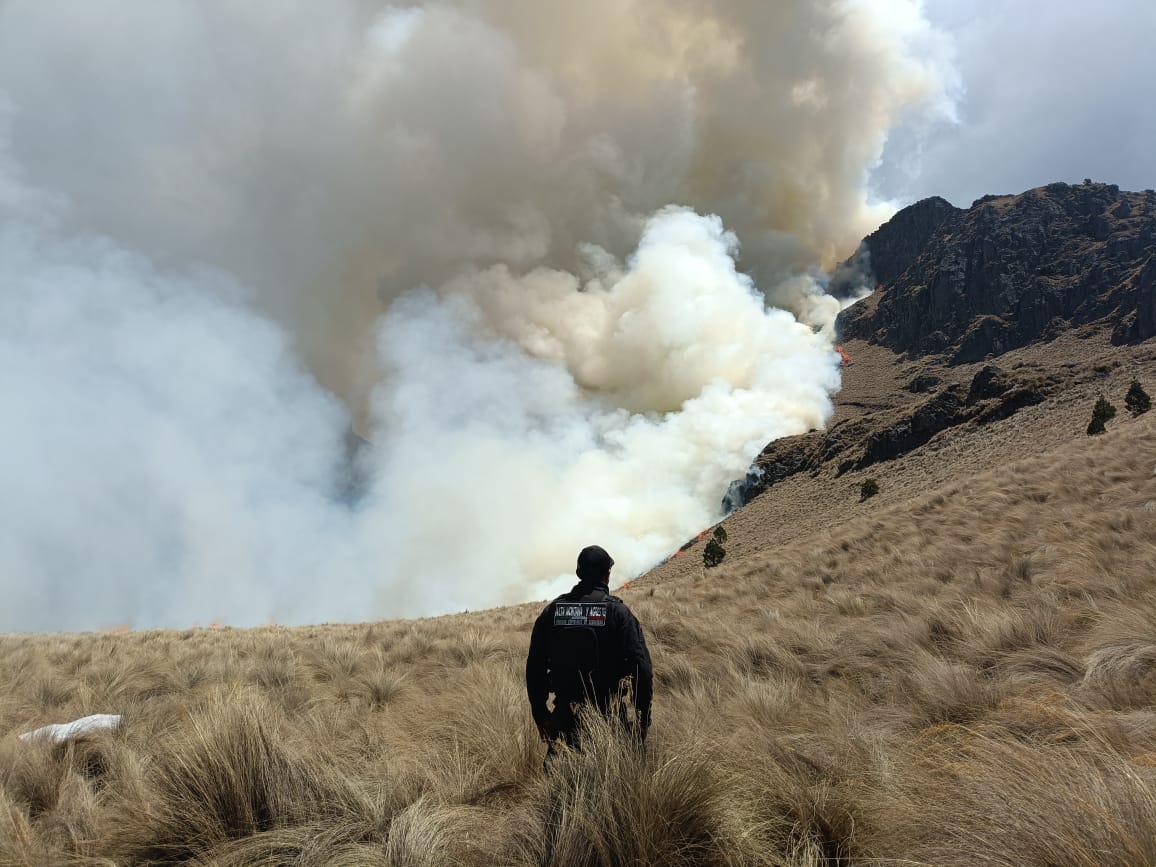
[[[669,553],[829,414],[813,275],[936,38],[907,0],[0,3],[0,629]]]

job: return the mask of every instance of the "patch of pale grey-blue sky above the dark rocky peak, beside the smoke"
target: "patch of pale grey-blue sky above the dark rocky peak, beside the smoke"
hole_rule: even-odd
[[[1085,177],[1156,187],[1156,2],[928,0],[954,39],[958,123],[892,132],[873,192],[966,206]]]

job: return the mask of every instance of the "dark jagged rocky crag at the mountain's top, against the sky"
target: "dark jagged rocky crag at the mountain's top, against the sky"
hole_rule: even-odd
[[[1097,321],[1118,343],[1156,335],[1150,190],[1048,184],[966,210],[926,199],[864,249],[879,289],[840,314],[840,333],[907,357],[976,362]]]

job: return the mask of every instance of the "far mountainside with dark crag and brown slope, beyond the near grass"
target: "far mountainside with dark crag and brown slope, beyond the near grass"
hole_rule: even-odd
[[[731,486],[726,512],[778,488],[776,501],[791,505],[764,503],[751,514],[813,529],[823,509],[808,502],[808,486],[821,501],[845,502],[868,473],[898,461],[898,474],[921,489],[939,475],[932,455],[970,466],[961,443],[1002,462],[1022,457],[1037,433],[1050,444],[1058,431],[1081,437],[1095,400],[1114,393],[1119,402],[1156,360],[1153,191],[1050,184],[968,209],[925,199],[864,239],[836,290],[868,266],[882,275],[875,291],[839,317],[845,364],[835,417],[769,443]],[[925,483],[907,466],[920,467]],[[788,480],[796,483],[784,488]]]

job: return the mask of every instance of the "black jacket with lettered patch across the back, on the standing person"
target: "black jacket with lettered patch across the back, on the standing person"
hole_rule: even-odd
[[[581,644],[587,636],[596,645],[592,651],[586,650],[590,644]],[[610,595],[606,583],[579,581],[546,606],[534,622],[526,657],[526,694],[534,722],[543,726],[549,719],[550,692],[555,707],[578,702],[606,711],[625,679],[632,681],[635,709],[646,728],[654,689],[650,651],[637,617]]]

